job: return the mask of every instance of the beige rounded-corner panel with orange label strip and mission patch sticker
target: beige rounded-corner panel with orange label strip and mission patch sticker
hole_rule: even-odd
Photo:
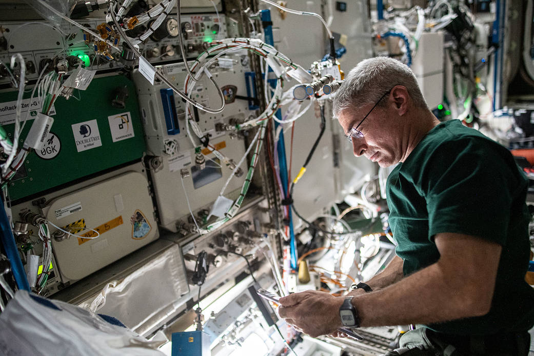
[[[117,211],[117,195],[121,195],[122,211]],[[64,212],[64,208],[69,206],[74,208]],[[98,228],[100,232],[98,238],[90,240],[75,237],[63,241],[52,239],[64,282],[84,278],[159,236],[148,182],[138,172],[123,173],[59,196],[52,200],[45,217],[59,227],[80,224],[83,219],[85,226]]]

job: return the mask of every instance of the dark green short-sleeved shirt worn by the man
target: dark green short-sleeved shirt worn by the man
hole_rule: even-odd
[[[439,259],[438,233],[478,236],[502,246],[490,312],[429,328],[490,335],[534,325],[534,289],[524,281],[530,250],[527,183],[505,147],[458,120],[430,130],[391,172],[389,225],[404,275]]]

